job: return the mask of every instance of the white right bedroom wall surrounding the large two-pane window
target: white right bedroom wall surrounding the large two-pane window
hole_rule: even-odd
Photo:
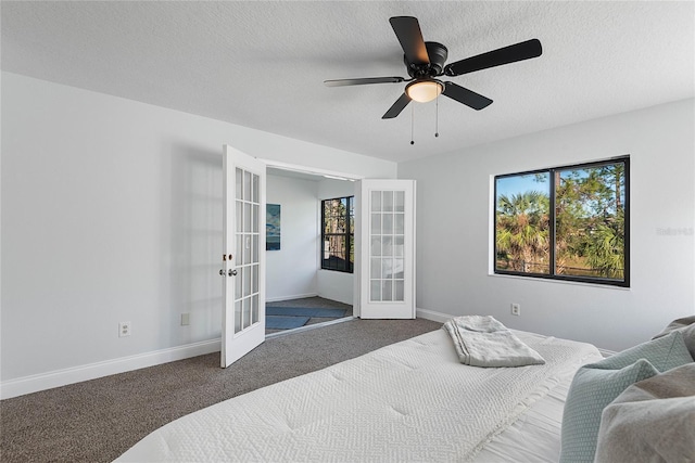
[[[402,163],[418,181],[418,308],[619,350],[695,313],[693,100]],[[631,287],[490,275],[491,176],[630,155]],[[659,229],[690,230],[664,235]],[[521,305],[521,317],[509,304]]]

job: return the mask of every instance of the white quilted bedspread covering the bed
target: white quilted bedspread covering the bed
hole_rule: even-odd
[[[595,347],[515,332],[546,363],[459,362],[443,330],[169,423],[119,461],[466,461]]]

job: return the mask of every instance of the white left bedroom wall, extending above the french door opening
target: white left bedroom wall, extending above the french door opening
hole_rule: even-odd
[[[223,144],[366,177],[396,171],[10,73],[1,98],[2,394],[9,381],[218,339]],[[119,321],[130,337],[118,338]]]

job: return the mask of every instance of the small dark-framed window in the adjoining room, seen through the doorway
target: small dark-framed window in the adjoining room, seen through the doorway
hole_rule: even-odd
[[[321,201],[321,269],[353,272],[354,196]]]

